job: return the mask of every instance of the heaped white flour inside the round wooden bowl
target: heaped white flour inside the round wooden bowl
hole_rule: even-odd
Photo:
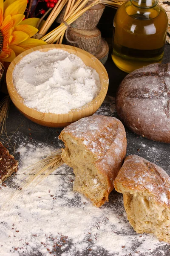
[[[14,69],[13,82],[24,104],[44,113],[68,113],[100,91],[96,70],[60,49],[26,55]]]

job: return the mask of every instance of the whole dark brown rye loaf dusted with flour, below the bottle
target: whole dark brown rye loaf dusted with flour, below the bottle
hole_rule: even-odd
[[[133,132],[170,143],[170,63],[133,71],[119,85],[116,110]]]

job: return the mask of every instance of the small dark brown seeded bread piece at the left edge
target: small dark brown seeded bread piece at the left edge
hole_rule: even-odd
[[[0,143],[0,183],[5,181],[14,172],[17,172],[18,162],[9,154],[2,143]]]

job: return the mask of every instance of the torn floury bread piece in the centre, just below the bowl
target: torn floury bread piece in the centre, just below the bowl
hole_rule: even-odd
[[[125,159],[124,126],[114,117],[90,116],[64,128],[59,138],[65,143],[62,159],[74,170],[74,191],[100,207]]]

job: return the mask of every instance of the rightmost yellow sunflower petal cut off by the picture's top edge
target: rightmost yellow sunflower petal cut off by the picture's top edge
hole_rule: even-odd
[[[3,18],[5,18],[8,15],[16,15],[16,14],[23,14],[26,10],[27,6],[27,0],[17,0],[14,3],[12,3],[10,6],[8,6],[5,10],[5,13],[3,15]]]

